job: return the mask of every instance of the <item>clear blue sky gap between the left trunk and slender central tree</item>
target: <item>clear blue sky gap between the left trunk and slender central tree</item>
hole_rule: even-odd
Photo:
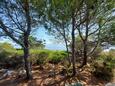
[[[59,43],[55,41],[54,36],[48,34],[48,32],[43,28],[39,28],[37,31],[32,33],[38,39],[44,39],[46,41],[46,49],[50,50],[65,50],[64,43]],[[55,42],[54,42],[55,41]]]

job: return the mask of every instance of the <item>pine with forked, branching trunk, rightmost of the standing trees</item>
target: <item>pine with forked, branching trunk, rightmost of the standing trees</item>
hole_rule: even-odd
[[[97,46],[100,44],[101,29],[113,20],[110,16],[113,12],[113,1],[98,1],[90,0],[84,1],[82,9],[80,9],[79,22],[82,18],[85,19],[84,23],[80,24],[77,28],[79,36],[83,43],[83,67],[87,63],[87,58],[90,56]],[[111,6],[112,5],[112,6]],[[110,7],[111,6],[111,7]],[[110,7],[110,8],[109,8]],[[104,13],[104,15],[102,15]],[[91,39],[93,37],[93,39]],[[88,40],[91,39],[95,46],[88,51]]]

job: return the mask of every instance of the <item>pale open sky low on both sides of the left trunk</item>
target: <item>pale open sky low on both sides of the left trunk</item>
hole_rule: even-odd
[[[34,35],[37,39],[45,40],[45,49],[49,50],[65,50],[64,43],[59,43],[55,41],[54,36],[48,34],[44,27],[40,27],[35,30],[32,35]],[[55,41],[55,42],[54,42]],[[0,38],[0,42],[8,42],[11,43],[14,47],[19,48],[20,46],[11,41],[8,38]]]

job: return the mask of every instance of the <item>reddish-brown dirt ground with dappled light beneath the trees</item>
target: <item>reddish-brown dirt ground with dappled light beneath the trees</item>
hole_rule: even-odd
[[[89,69],[78,72],[74,77],[59,74],[60,65],[47,64],[44,68],[33,67],[33,80],[25,80],[24,76],[13,75],[0,80],[0,86],[69,86],[70,83],[80,82],[83,86],[105,86],[107,82],[96,79]],[[55,71],[55,74],[53,74]],[[115,79],[111,82],[115,83]]]

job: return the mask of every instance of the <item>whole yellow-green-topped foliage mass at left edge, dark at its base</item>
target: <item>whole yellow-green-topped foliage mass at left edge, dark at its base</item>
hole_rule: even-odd
[[[0,44],[0,66],[5,68],[16,68],[19,64],[22,64],[22,57],[17,54],[16,49],[14,49],[8,43]]]

